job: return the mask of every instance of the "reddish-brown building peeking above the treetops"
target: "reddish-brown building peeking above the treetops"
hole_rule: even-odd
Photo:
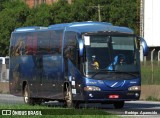
[[[40,5],[42,3],[46,3],[48,5],[51,5],[58,0],[24,0],[24,2],[29,6],[29,7],[36,7],[37,5]],[[68,3],[71,3],[72,0],[66,0]]]

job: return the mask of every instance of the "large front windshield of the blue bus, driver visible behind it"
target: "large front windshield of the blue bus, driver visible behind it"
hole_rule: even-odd
[[[135,36],[84,36],[84,73],[138,72],[138,51]]]

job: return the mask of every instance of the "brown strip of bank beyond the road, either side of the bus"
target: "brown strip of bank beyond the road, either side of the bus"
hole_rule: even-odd
[[[145,100],[150,96],[160,99],[160,85],[142,85],[141,90],[141,100]],[[9,93],[8,82],[0,82],[0,93]]]

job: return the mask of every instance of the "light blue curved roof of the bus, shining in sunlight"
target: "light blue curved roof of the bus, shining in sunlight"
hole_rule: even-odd
[[[21,27],[14,30],[14,32],[37,32],[40,30],[65,30],[65,31],[76,31],[78,33],[85,32],[98,32],[98,31],[111,31],[111,32],[123,32],[133,34],[133,30],[127,27],[113,26],[108,22],[73,22],[50,25],[48,27],[32,26],[32,27]]]

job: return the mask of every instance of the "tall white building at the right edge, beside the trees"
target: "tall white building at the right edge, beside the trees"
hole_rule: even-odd
[[[149,60],[160,61],[160,0],[141,0],[140,35],[149,46]]]

